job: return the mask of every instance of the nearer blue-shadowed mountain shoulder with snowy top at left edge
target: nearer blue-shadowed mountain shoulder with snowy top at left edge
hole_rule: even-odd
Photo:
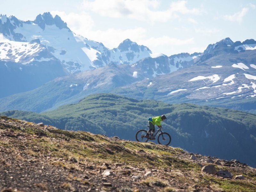
[[[0,34],[0,42],[0,98],[68,75],[60,60],[36,41],[10,41]]]

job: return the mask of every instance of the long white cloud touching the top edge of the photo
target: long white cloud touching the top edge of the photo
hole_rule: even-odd
[[[147,22],[166,22],[181,14],[200,14],[199,9],[188,9],[187,1],[172,2],[166,10],[159,10],[157,0],[84,0],[81,8],[112,18],[130,18]]]

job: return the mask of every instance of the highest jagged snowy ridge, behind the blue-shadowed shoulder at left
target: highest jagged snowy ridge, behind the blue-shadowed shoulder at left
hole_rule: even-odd
[[[162,55],[155,54],[146,46],[138,45],[129,39],[124,40],[117,48],[108,49],[102,43],[76,35],[58,15],[53,18],[50,12],[39,14],[34,21],[21,21],[14,16],[1,15],[0,33],[10,41],[33,41],[41,44],[59,59],[70,73],[99,68],[109,63],[133,64],[145,57]],[[18,61],[12,54],[1,55],[0,59],[11,60],[9,57],[15,58],[15,62]]]

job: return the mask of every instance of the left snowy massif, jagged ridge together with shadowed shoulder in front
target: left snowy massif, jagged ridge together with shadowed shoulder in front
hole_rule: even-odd
[[[1,14],[0,62],[3,65],[0,66],[0,80],[6,84],[0,86],[0,98],[35,89],[67,74],[110,63],[133,64],[145,57],[159,55],[162,54],[152,53],[129,39],[117,48],[108,49],[102,43],[76,35],[58,15],[53,18],[49,12],[39,14],[34,21]]]

